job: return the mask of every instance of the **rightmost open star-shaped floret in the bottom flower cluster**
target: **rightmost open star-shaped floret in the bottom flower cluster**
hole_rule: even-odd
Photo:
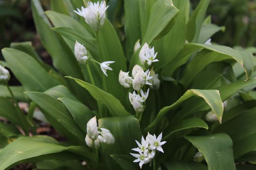
[[[160,152],[163,153],[163,149],[162,149],[162,145],[166,143],[166,141],[162,141],[162,133],[160,133],[160,135],[157,137],[155,134],[154,136],[150,135],[148,133],[146,140],[149,142],[150,146],[149,149],[150,150],[158,150]]]

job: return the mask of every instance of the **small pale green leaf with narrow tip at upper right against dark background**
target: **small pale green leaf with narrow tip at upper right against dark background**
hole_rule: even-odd
[[[218,27],[215,24],[204,24],[201,27],[201,31],[198,37],[198,43],[205,43],[209,38],[211,38],[215,33],[225,31],[225,27]]]

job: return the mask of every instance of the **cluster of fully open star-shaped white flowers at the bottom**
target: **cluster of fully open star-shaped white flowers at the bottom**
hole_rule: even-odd
[[[166,141],[162,141],[162,133],[157,137],[155,134],[154,136],[148,133],[146,139],[141,137],[141,144],[136,140],[138,144],[137,148],[133,148],[133,151],[138,153],[130,153],[137,159],[133,162],[139,162],[140,169],[142,168],[143,164],[149,163],[156,155],[156,152],[159,151],[163,153],[162,145],[166,143]]]

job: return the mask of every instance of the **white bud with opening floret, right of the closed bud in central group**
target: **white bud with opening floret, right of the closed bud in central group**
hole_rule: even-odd
[[[133,88],[138,91],[145,84],[152,85],[151,83],[148,82],[150,79],[152,79],[152,76],[150,76],[149,70],[147,70],[146,72],[140,70],[134,77]]]

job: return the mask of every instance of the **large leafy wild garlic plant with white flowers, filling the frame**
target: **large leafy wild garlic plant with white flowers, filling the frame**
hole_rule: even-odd
[[[254,169],[256,60],[211,41],[209,3],[31,0],[53,66],[2,49],[0,170]]]

